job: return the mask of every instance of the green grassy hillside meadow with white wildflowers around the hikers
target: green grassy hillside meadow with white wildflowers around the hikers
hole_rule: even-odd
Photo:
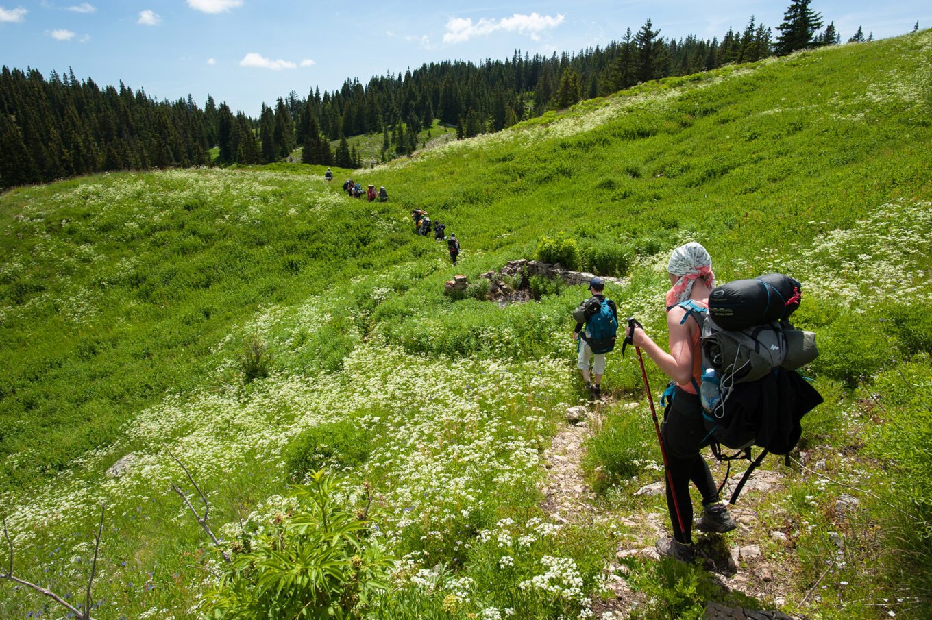
[[[15,574],[83,603],[103,505],[94,618],[297,617],[260,616],[257,594],[218,581],[219,552],[171,489],[197,498],[174,455],[237,554],[281,544],[322,505],[292,484],[339,474],[327,510],[364,506],[373,524],[360,559],[343,558],[362,601],[347,617],[598,617],[616,548],[637,540],[627,517],[665,513],[634,495],[662,476],[639,367],[610,355],[613,404],[583,455],[598,516],[554,522],[541,455],[583,397],[569,310],[587,294],[538,282],[539,301],[500,308],[444,282],[558,246],[573,267],[624,277],[607,295],[663,339],[667,257],[700,241],[720,282],[776,270],[803,283],[794,319],[817,333],[805,374],[826,403],[802,420],[802,465],[764,463],[785,484],[740,533],[780,567],[771,589],[748,599],[702,566],[629,558],[616,572],[641,595],[630,613],[700,617],[715,599],[927,617],[930,58],[932,31],[823,48],[335,169],[386,186],[386,203],[298,164],[7,192],[0,514]],[[456,269],[413,234],[414,208],[457,234]],[[0,583],[0,617],[65,612]]]

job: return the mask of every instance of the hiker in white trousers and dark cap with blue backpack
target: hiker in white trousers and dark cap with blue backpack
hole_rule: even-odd
[[[592,398],[602,395],[602,375],[605,374],[605,354],[615,346],[618,332],[618,308],[611,299],[602,295],[605,282],[601,278],[589,281],[591,297],[583,301],[577,310],[573,310],[576,327],[573,328],[573,340],[579,354],[577,367],[583,372],[586,389]],[[585,324],[585,331],[583,331]],[[580,334],[582,333],[582,338]],[[589,360],[592,359],[592,371]]]

